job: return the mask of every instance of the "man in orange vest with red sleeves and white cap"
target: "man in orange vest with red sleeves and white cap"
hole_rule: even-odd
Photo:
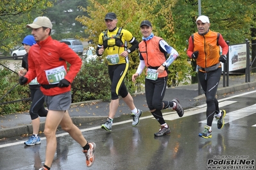
[[[187,56],[196,60],[198,66],[198,79],[207,102],[207,125],[205,130],[199,134],[203,138],[212,137],[212,121],[214,117],[218,120],[218,128],[224,126],[225,110],[219,110],[219,102],[215,98],[221,77],[221,63],[226,63],[228,45],[220,33],[210,31],[210,20],[207,16],[201,15],[196,19],[198,32],[189,38],[189,49]],[[219,45],[222,47],[220,56]]]

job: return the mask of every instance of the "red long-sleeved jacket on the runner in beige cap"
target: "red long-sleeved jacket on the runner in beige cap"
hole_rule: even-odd
[[[71,65],[68,72],[66,61]],[[28,82],[37,77],[39,84],[49,84],[46,70],[64,66],[67,74],[62,79],[65,78],[67,81],[73,82],[74,77],[80,71],[81,64],[81,58],[68,45],[53,40],[49,36],[46,40],[31,46],[28,53],[28,72],[24,77],[28,79]],[[71,85],[67,88],[50,89],[44,89],[41,86],[40,89],[44,95],[55,96],[71,91]]]

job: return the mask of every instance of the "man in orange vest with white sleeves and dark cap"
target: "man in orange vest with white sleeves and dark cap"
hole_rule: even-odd
[[[168,66],[178,57],[178,52],[173,49],[166,41],[152,33],[152,25],[149,20],[141,22],[142,42],[139,43],[140,63],[135,74],[132,75],[132,81],[141,75],[144,67],[147,67],[145,79],[145,92],[148,108],[155,119],[160,123],[160,130],[155,133],[156,137],[171,133],[162,115],[162,109],[171,107],[182,117],[184,114],[182,105],[178,99],[165,101],[166,84],[168,79]],[[167,54],[170,54],[166,59]]]

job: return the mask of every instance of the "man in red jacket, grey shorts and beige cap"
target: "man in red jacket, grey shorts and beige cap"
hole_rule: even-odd
[[[50,169],[56,151],[56,129],[58,125],[69,133],[83,148],[87,167],[94,163],[95,143],[89,143],[76,127],[69,109],[71,105],[71,82],[80,71],[81,59],[65,43],[53,40],[50,36],[53,25],[47,17],[37,17],[33,24],[27,27],[32,29],[37,44],[33,45],[28,54],[29,70],[26,75],[20,77],[21,85],[28,84],[37,77],[44,94],[48,114],[44,134],[46,135],[46,161],[42,170]],[[67,72],[66,61],[71,65]]]

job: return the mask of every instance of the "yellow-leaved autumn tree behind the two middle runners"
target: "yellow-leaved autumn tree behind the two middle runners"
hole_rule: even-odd
[[[142,20],[150,20],[153,23],[154,35],[161,36],[169,45],[175,49],[178,37],[174,36],[174,26],[172,12],[169,10],[176,1],[166,2],[162,1],[108,1],[106,4],[101,4],[98,1],[90,0],[92,6],[87,8],[81,7],[82,10],[88,12],[87,16],[78,16],[80,21],[87,30],[90,31],[90,37],[97,42],[98,37],[92,35],[99,35],[105,29],[103,19],[107,12],[115,12],[117,14],[118,26],[128,29],[137,40],[141,41],[141,33],[139,24]],[[162,5],[161,5],[162,4]],[[99,13],[98,11],[101,11]],[[132,14],[132,15],[131,15]],[[180,48],[180,47],[178,47]],[[184,52],[183,52],[184,53]],[[138,53],[130,54],[130,70],[128,72],[128,79],[135,73],[139,63]],[[191,66],[187,63],[187,58],[182,54],[173,65],[169,68],[168,86],[177,86],[179,82],[188,79],[187,72],[190,72]],[[174,71],[173,71],[174,70]],[[139,82],[144,82],[144,77],[140,77]]]

